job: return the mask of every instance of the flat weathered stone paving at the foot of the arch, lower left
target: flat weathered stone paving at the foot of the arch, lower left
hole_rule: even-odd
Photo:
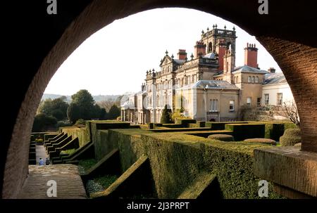
[[[49,198],[47,181],[56,181],[56,197]],[[18,196],[20,199],[83,199],[87,198],[78,167],[73,164],[29,165],[29,175]]]

